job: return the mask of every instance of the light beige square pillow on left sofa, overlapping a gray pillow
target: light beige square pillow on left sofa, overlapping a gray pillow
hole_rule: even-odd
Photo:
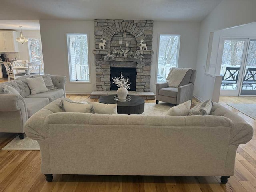
[[[31,90],[31,94],[48,92],[47,87],[45,86],[44,80],[42,76],[36,78],[27,79],[28,86]]]

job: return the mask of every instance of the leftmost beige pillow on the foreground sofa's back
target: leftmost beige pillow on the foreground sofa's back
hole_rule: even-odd
[[[73,113],[95,113],[94,107],[91,104],[70,102],[67,100],[61,100],[60,108],[65,112]]]

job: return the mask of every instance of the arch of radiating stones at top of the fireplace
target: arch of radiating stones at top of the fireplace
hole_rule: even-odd
[[[143,31],[134,22],[114,22],[112,25],[108,26],[102,34],[102,38],[107,41],[111,41],[112,37],[120,32],[128,32],[134,36],[136,41],[140,43],[141,39],[145,38]]]

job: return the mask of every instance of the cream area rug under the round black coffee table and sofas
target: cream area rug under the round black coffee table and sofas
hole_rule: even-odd
[[[168,103],[145,103],[143,115],[165,115],[166,112],[174,106]],[[20,139],[19,136],[14,138],[2,150],[40,150],[38,142],[28,138]]]

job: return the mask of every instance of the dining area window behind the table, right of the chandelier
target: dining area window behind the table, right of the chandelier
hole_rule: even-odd
[[[44,63],[40,38],[28,38],[28,52],[30,62],[39,62],[40,74],[44,74]]]

